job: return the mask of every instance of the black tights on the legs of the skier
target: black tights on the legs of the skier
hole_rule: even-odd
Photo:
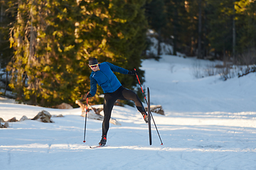
[[[139,99],[139,96],[129,89],[125,89],[123,86],[120,86],[117,91],[113,93],[106,93],[104,96],[104,103],[103,103],[103,111],[104,111],[104,120],[102,123],[102,136],[107,135],[107,131],[110,128],[110,117],[112,108],[114,107],[114,102],[120,100],[129,100],[134,101],[135,106],[137,107],[140,113],[145,112],[145,108],[142,105],[142,101]]]

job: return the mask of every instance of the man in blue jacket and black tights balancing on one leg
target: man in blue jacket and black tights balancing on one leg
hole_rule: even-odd
[[[148,115],[142,105],[142,101],[134,91],[125,89],[113,73],[119,72],[122,74],[134,75],[137,74],[137,71],[128,71],[127,69],[118,67],[110,62],[102,62],[99,64],[96,58],[89,59],[89,67],[92,69],[92,73],[90,74],[90,91],[85,94],[81,101],[85,101],[86,98],[95,96],[97,84],[102,87],[105,94],[103,103],[104,120],[102,122],[102,139],[100,140],[99,145],[106,145],[107,131],[110,128],[111,112],[114,107],[114,102],[117,101],[117,99],[134,101],[138,111],[142,113],[145,122],[148,122]]]

